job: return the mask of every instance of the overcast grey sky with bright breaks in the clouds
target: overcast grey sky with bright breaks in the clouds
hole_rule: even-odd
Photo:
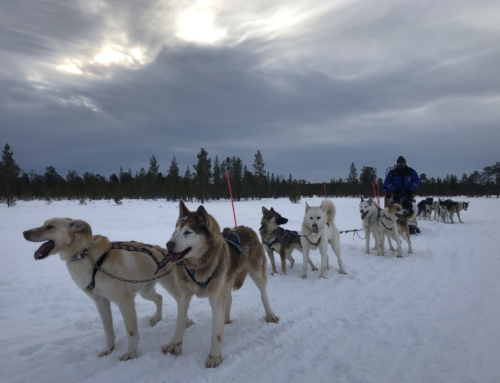
[[[498,0],[2,0],[0,145],[109,176],[205,148],[311,182],[500,161]]]

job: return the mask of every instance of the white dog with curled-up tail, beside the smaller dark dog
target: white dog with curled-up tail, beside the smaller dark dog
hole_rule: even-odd
[[[302,265],[302,278],[307,278],[307,262],[309,260],[309,251],[319,248],[321,253],[321,271],[320,278],[326,278],[326,270],[330,270],[328,259],[328,244],[332,247],[339,262],[340,274],[347,274],[342,265],[340,257],[340,233],[335,226],[336,209],[335,205],[329,199],[321,202],[320,206],[309,206],[306,202],[306,211],[302,222],[302,236],[300,244],[302,245],[302,256],[304,263]]]

